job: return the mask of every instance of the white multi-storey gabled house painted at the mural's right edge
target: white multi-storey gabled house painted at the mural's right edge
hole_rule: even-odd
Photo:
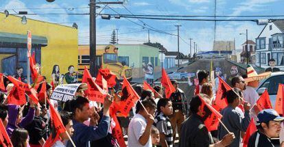
[[[268,68],[268,60],[275,59],[276,67],[284,69],[284,21],[265,25],[256,38],[256,65]]]

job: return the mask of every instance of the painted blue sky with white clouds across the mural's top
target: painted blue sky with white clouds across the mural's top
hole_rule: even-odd
[[[10,13],[16,12],[19,8],[25,8],[29,13],[88,13],[89,0],[56,0],[54,3],[47,3],[45,0],[0,0],[0,11],[8,9]],[[97,0],[98,1],[98,0]],[[107,0],[102,0],[107,1]],[[117,1],[117,0],[108,0]],[[284,14],[283,0],[217,0],[217,15],[281,15]],[[103,7],[104,5],[102,5]],[[119,14],[161,14],[161,15],[213,15],[214,0],[128,0],[123,5],[109,5]],[[40,8],[40,10],[32,9]],[[49,9],[53,8],[53,9]],[[56,8],[56,9],[54,9]],[[63,9],[60,9],[63,8]],[[72,9],[79,8],[79,9]],[[106,8],[102,13],[115,14],[113,10]],[[51,23],[62,23],[63,25],[78,24],[79,43],[88,44],[89,16],[77,15],[36,15],[28,18],[49,21]],[[214,23],[204,21],[140,21],[136,18],[102,20],[97,17],[97,44],[108,44],[113,29],[119,29],[120,44],[142,44],[147,42],[147,28],[151,27],[166,31],[169,34],[177,34],[174,25],[180,27],[180,51],[189,53],[189,38],[198,44],[198,50],[211,50],[214,38]],[[138,23],[139,25],[135,24]],[[142,25],[142,26],[141,26]],[[263,26],[254,22],[217,22],[216,40],[236,39],[236,49],[241,49],[246,36],[240,36],[248,29],[248,39],[255,40]],[[132,33],[131,33],[132,32]],[[161,42],[169,51],[177,51],[177,37],[167,34],[150,31],[151,42]]]

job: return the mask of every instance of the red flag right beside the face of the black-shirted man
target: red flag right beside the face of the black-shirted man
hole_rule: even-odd
[[[204,125],[206,126],[207,130],[214,131],[217,130],[219,125],[219,120],[222,118],[221,113],[219,113],[217,110],[215,110],[211,105],[206,103],[202,96],[198,94],[200,100],[201,100],[201,110],[203,111],[204,115],[209,115],[208,118],[204,121]]]

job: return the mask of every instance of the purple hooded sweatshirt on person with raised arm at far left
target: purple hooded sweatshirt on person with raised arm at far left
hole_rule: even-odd
[[[32,107],[29,107],[29,111],[27,112],[27,116],[25,116],[25,118],[22,118],[22,121],[16,125],[16,118],[18,117],[18,109],[20,107],[18,105],[8,105],[8,124],[6,127],[6,131],[9,135],[9,137],[12,136],[12,132],[14,131],[14,129],[16,128],[23,128],[25,126],[27,126],[27,124],[29,124],[30,122],[32,122],[32,120],[34,120],[34,112],[35,109]]]

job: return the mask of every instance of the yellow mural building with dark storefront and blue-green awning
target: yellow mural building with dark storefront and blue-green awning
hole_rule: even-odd
[[[20,16],[0,13],[0,72],[12,75],[16,67],[27,69],[27,30],[32,31],[32,53],[41,66],[41,73],[51,81],[54,65],[60,73],[68,72],[78,64],[78,29],[27,18],[25,25]]]

